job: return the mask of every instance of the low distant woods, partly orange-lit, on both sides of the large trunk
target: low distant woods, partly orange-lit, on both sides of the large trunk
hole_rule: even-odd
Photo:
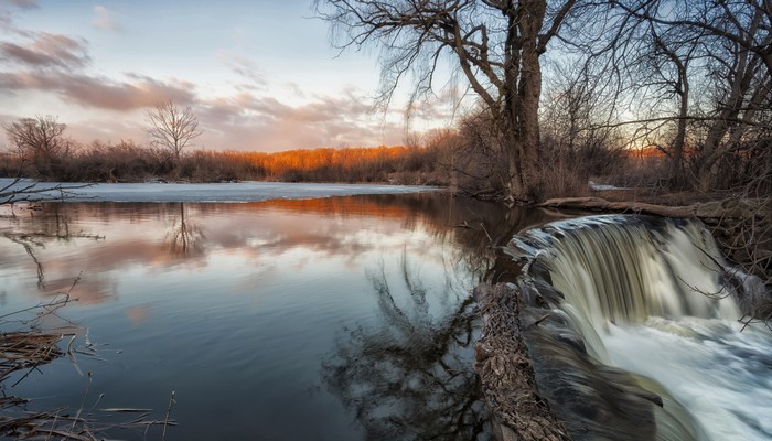
[[[505,192],[506,160],[485,115],[455,129],[436,130],[414,146],[319,148],[275,153],[170,149],[131,140],[81,144],[56,117],[6,126],[15,149],[0,151],[0,176],[50,182],[345,182],[451,187],[482,198]],[[589,180],[651,184],[666,174],[662,155],[623,149],[619,139],[593,139],[566,150],[545,136],[547,195],[582,194]],[[651,149],[650,149],[651,150]]]

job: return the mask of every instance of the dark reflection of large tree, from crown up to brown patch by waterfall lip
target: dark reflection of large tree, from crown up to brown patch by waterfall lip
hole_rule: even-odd
[[[492,250],[528,220],[537,222],[536,217],[529,218],[525,211],[502,213],[484,204],[474,211],[464,208],[462,222],[458,214],[442,213],[446,219],[452,218],[451,225],[463,228],[452,230],[464,247],[450,258],[457,263],[451,271],[458,273],[463,268],[463,272],[475,275],[474,280],[514,276],[508,273],[511,266],[497,265]],[[432,313],[430,298],[437,301],[438,295],[427,298],[427,287],[406,254],[399,269],[390,282],[383,262],[368,271],[379,320],[344,330],[336,351],[322,364],[328,389],[354,410],[367,439],[492,438],[489,412],[472,369],[478,340],[473,299],[448,275],[439,295],[448,308]]]

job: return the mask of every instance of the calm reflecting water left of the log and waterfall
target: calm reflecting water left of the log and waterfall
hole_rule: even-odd
[[[168,440],[487,439],[469,291],[506,279],[492,246],[543,220],[442,192],[4,213],[1,310],[79,276],[46,325],[76,322],[98,358],[3,391],[108,421],[163,420],[173,391]]]

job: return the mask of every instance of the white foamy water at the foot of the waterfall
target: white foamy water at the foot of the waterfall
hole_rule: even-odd
[[[723,320],[651,318],[602,334],[610,364],[656,379],[707,440],[772,439],[772,333]]]

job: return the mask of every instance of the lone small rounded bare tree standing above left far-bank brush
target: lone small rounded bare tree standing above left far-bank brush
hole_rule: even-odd
[[[190,107],[181,109],[172,100],[162,101],[146,111],[148,127],[146,132],[152,139],[152,144],[171,150],[174,159],[185,147],[192,146],[193,140],[203,131],[199,130],[199,119]]]

